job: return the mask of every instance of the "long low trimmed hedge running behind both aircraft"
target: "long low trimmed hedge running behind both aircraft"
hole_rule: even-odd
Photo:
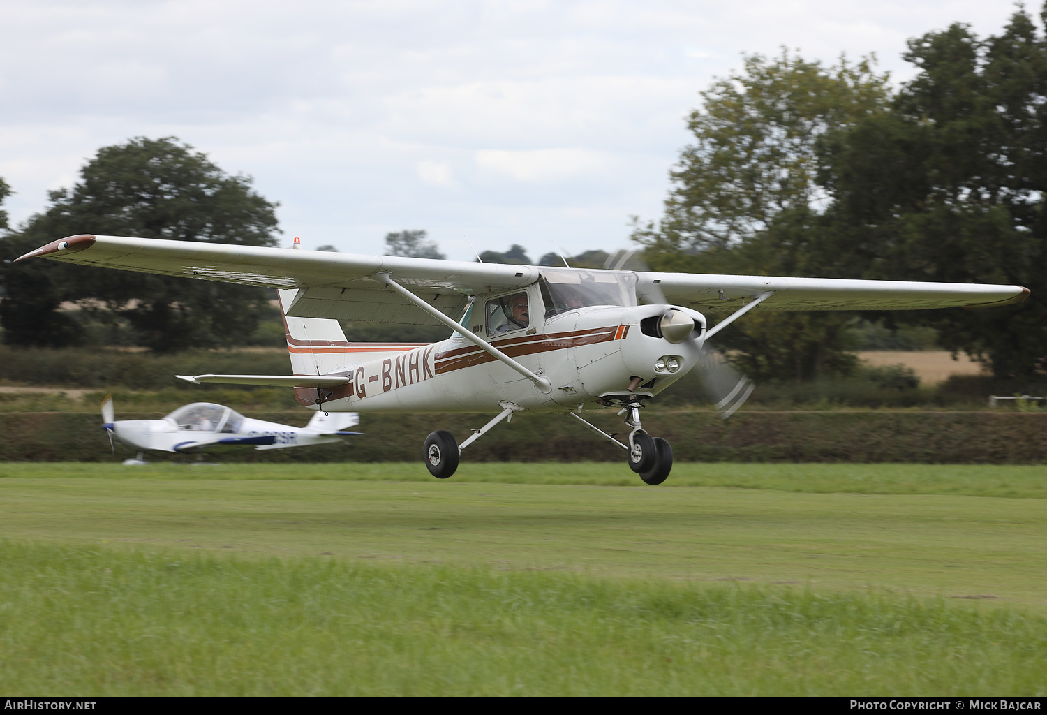
[[[121,414],[156,419],[159,414]],[[304,425],[309,415],[254,414],[273,422]],[[606,431],[625,431],[612,410],[586,414]],[[459,441],[490,415],[364,415],[366,437],[348,445],[226,452],[236,462],[401,462],[420,460],[422,442],[435,429]],[[1038,464],[1047,460],[1047,412],[758,412],[720,421],[709,411],[650,412],[644,427],[672,444],[681,462],[854,462],[922,464]],[[116,457],[99,418],[79,412],[0,414],[0,461],[109,462]],[[470,445],[470,462],[619,461],[618,449],[564,415],[517,416]],[[151,457],[153,459],[153,457]],[[157,455],[156,459],[164,459]],[[185,460],[192,457],[175,456]]]

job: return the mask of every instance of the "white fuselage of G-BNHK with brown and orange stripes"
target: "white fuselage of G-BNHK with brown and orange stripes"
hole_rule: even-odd
[[[673,308],[695,321],[693,338],[672,343],[645,328]],[[549,394],[458,334],[426,345],[389,344],[378,352],[359,352],[347,343],[344,365],[327,374],[349,377],[350,383],[320,390],[299,387],[295,398],[314,409],[320,400],[322,409],[331,411],[488,411],[499,401],[535,411],[570,411],[608,395],[630,394],[634,378],[640,381],[631,394],[652,396],[665,389],[694,367],[704,327],[705,317],[686,308],[592,306],[548,318],[534,315],[528,330],[491,339],[507,356],[548,377]],[[314,350],[322,350],[330,360],[338,348],[329,342]],[[675,371],[659,368],[659,361],[668,358],[675,359]]]

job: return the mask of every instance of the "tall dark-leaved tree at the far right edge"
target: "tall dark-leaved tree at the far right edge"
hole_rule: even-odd
[[[1030,377],[1047,370],[1047,40],[1020,8],[997,37],[954,24],[905,57],[919,72],[892,111],[825,141],[826,221],[867,277],[1029,287],[1015,306],[915,317],[998,377]]]

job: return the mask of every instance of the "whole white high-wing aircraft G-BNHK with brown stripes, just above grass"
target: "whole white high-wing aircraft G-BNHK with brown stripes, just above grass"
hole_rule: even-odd
[[[626,452],[647,484],[672,468],[672,449],[643,428],[645,403],[698,365],[707,342],[752,310],[913,310],[1003,306],[1021,286],[848,281],[507,266],[261,248],[187,241],[73,236],[18,259],[180,275],[280,289],[294,375],[180,376],[191,382],[294,387],[325,411],[493,411],[461,444],[425,440],[433,476],[514,412],[562,412]],[[708,328],[705,313],[726,314]],[[451,316],[459,316],[458,319]],[[339,319],[444,325],[431,344],[349,342]],[[751,392],[739,381],[721,404]],[[625,442],[581,415],[618,408]]]

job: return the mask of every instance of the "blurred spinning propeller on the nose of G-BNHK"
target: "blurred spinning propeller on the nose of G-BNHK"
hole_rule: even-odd
[[[650,267],[644,261],[643,253],[638,248],[620,250],[612,253],[607,258],[603,267],[610,270],[634,270],[645,273],[650,271]],[[640,296],[642,303],[663,306],[672,305],[666,299],[662,286],[656,283],[642,281],[637,285],[637,294]],[[680,312],[675,311],[675,316],[680,315]],[[685,339],[693,339],[690,337],[681,337],[678,340],[673,339],[674,336],[670,334],[670,331],[676,328],[674,322],[678,322],[678,320],[674,321],[668,314],[663,318],[662,330],[667,339],[671,342],[683,342]],[[686,334],[689,335],[690,331],[687,331]],[[745,403],[749,396],[753,394],[753,389],[756,388],[756,383],[744,373],[732,365],[721,351],[709,348],[709,345],[705,345],[699,354],[697,370],[701,386],[712,402],[715,403],[721,420],[726,420],[734,415]]]

